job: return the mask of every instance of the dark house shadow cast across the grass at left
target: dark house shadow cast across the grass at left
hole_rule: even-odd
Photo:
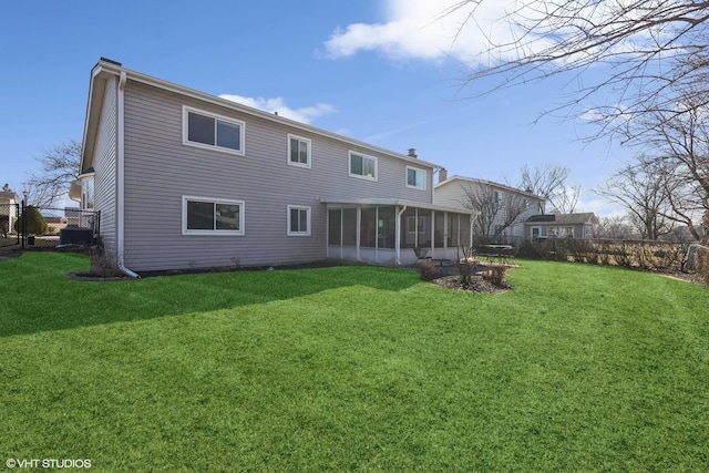
[[[0,337],[233,309],[353,286],[399,291],[419,282],[415,271],[368,266],[106,282],[66,278],[88,267],[89,259],[75,254],[28,253],[0,261]]]

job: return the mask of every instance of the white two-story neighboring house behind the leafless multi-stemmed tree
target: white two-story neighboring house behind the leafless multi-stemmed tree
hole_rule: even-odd
[[[445,169],[440,172],[433,193],[438,205],[470,209],[482,204],[483,208],[477,207],[481,215],[476,235],[523,237],[526,236],[525,220],[544,214],[545,200],[537,195],[491,181],[448,177]],[[512,224],[507,226],[507,222]]]

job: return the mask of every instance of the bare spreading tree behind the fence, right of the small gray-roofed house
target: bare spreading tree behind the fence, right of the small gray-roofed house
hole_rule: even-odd
[[[657,165],[644,162],[616,172],[597,193],[623,205],[628,220],[645,239],[656,240],[672,230],[668,200],[667,174]]]

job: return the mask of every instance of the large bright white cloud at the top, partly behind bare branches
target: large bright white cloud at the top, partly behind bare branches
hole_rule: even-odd
[[[593,22],[603,24],[619,14],[630,22],[640,12],[625,11],[628,1],[572,4],[568,11],[580,11],[577,18],[548,21],[548,2],[542,0],[386,0],[384,22],[335,30],[325,42],[325,54],[340,59],[376,51],[394,60],[450,56],[465,64],[489,66],[538,53],[553,44],[564,45],[566,38],[577,35],[580,28]],[[618,52],[637,50],[647,34],[636,34],[631,41],[616,45]],[[490,54],[491,44],[494,56]],[[566,60],[576,59],[579,55]]]

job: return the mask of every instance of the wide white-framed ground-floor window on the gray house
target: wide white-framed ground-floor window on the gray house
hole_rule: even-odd
[[[244,235],[244,202],[183,196],[183,235]]]

